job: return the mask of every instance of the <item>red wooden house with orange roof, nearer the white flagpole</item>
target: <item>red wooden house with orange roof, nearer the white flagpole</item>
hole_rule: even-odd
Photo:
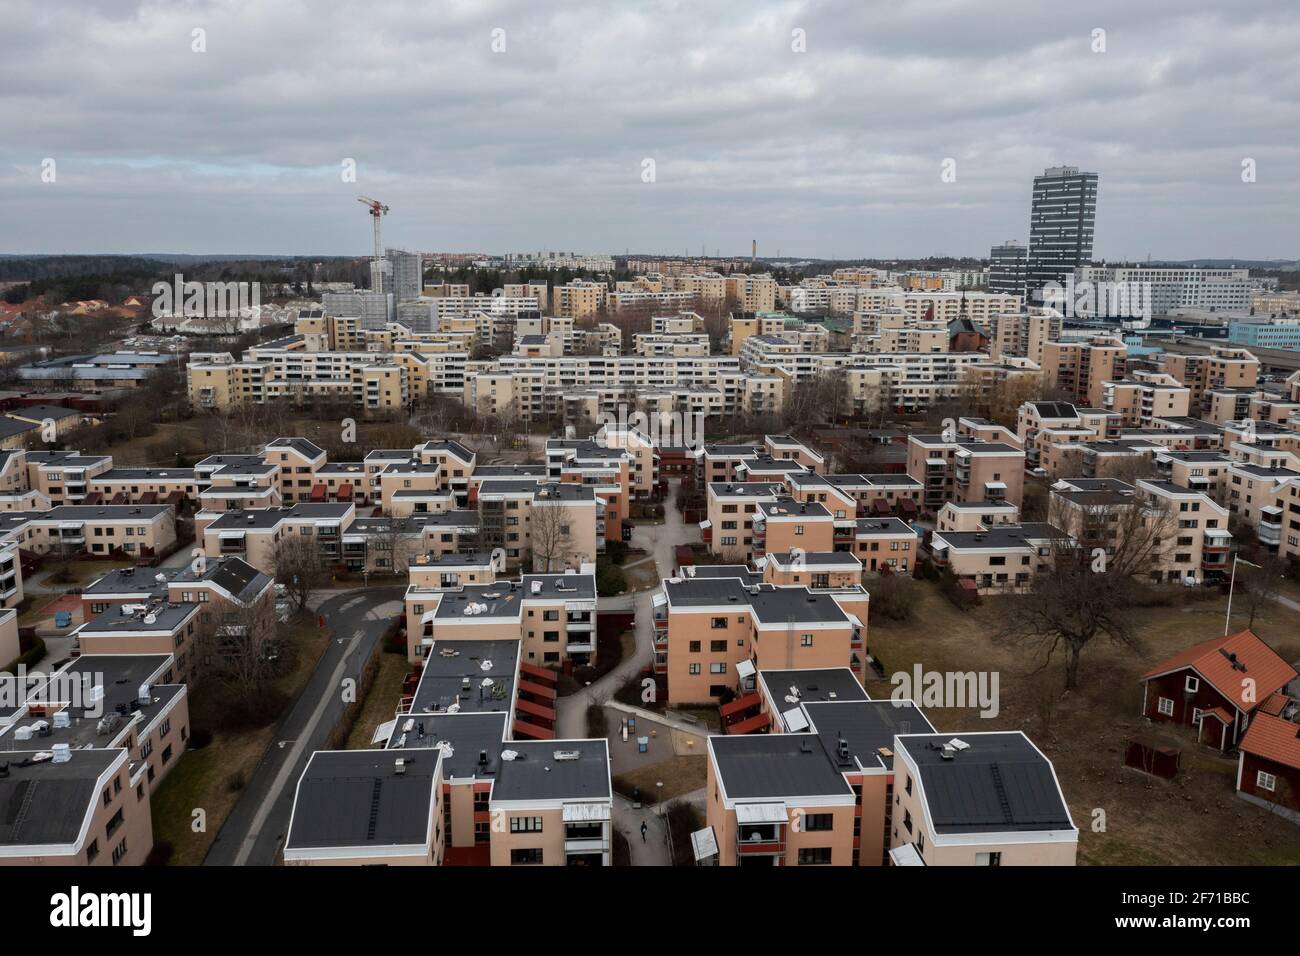
[[[1252,631],[1213,637],[1147,671],[1143,717],[1196,731],[1200,743],[1227,750],[1251,715],[1296,676],[1295,669]]]

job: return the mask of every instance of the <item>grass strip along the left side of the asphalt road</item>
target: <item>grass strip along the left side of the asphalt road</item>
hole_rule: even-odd
[[[328,627],[315,623],[281,626],[289,667],[276,682],[276,689],[289,704],[311,676],[316,662],[330,641]],[[286,704],[286,713],[287,706]],[[252,778],[254,770],[276,736],[280,719],[256,728],[221,730],[221,688],[202,683],[190,695],[190,728],[207,727],[212,741],[198,750],[186,750],[172,773],[150,799],[153,817],[153,842],[169,842],[170,864],[198,866],[217,838],[239,791]],[[207,814],[204,832],[191,829],[194,810]]]

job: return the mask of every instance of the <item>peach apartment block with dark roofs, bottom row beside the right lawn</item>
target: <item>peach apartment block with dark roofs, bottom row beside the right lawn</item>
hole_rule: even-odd
[[[760,670],[758,685],[750,726],[708,739],[716,865],[1074,864],[1056,774],[1022,734],[940,735],[842,669]]]

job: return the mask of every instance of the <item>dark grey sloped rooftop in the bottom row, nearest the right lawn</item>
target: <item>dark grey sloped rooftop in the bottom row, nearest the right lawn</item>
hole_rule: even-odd
[[[968,747],[944,757],[954,737]],[[930,822],[941,834],[1069,830],[1052,765],[1019,732],[901,736],[916,765]]]

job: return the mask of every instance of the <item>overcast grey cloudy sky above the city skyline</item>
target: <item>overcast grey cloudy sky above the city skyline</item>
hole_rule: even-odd
[[[1098,259],[1295,259],[1296,13],[0,0],[0,251],[987,255],[1069,164]]]

